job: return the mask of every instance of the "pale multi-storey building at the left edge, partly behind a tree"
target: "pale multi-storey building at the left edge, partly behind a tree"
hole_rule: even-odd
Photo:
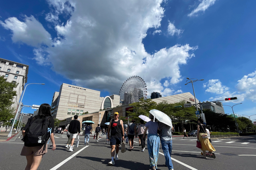
[[[21,93],[24,90],[25,83],[27,82],[28,72],[28,65],[0,58],[0,76],[4,75],[4,78],[8,82],[19,83],[14,89],[17,92],[17,96],[15,96],[13,99],[12,107],[15,109],[18,106]]]

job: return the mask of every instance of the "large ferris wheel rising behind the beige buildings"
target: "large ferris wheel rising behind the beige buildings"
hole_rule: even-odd
[[[131,104],[138,102],[141,98],[147,98],[147,86],[145,81],[134,75],[124,81],[120,91],[120,104]]]

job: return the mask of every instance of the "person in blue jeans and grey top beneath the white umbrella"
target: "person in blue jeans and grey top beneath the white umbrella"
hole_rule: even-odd
[[[162,150],[165,155],[165,165],[168,167],[169,170],[173,170],[173,163],[172,163],[172,130],[173,126],[168,126],[162,122],[159,122],[160,131],[159,134]]]

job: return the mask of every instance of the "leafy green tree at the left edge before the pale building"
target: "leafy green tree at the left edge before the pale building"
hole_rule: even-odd
[[[14,110],[11,108],[13,98],[17,96],[14,88],[17,83],[12,83],[4,79],[4,75],[0,76],[0,125],[13,118]]]

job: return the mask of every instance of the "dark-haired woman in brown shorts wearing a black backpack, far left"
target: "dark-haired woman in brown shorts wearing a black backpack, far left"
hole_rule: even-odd
[[[22,130],[24,146],[21,150],[21,156],[26,156],[27,159],[25,170],[37,170],[43,155],[47,152],[49,137],[53,145],[52,151],[56,149],[53,132],[54,119],[51,115],[51,106],[41,104],[38,115],[31,117]],[[38,133],[41,135],[35,135]]]

